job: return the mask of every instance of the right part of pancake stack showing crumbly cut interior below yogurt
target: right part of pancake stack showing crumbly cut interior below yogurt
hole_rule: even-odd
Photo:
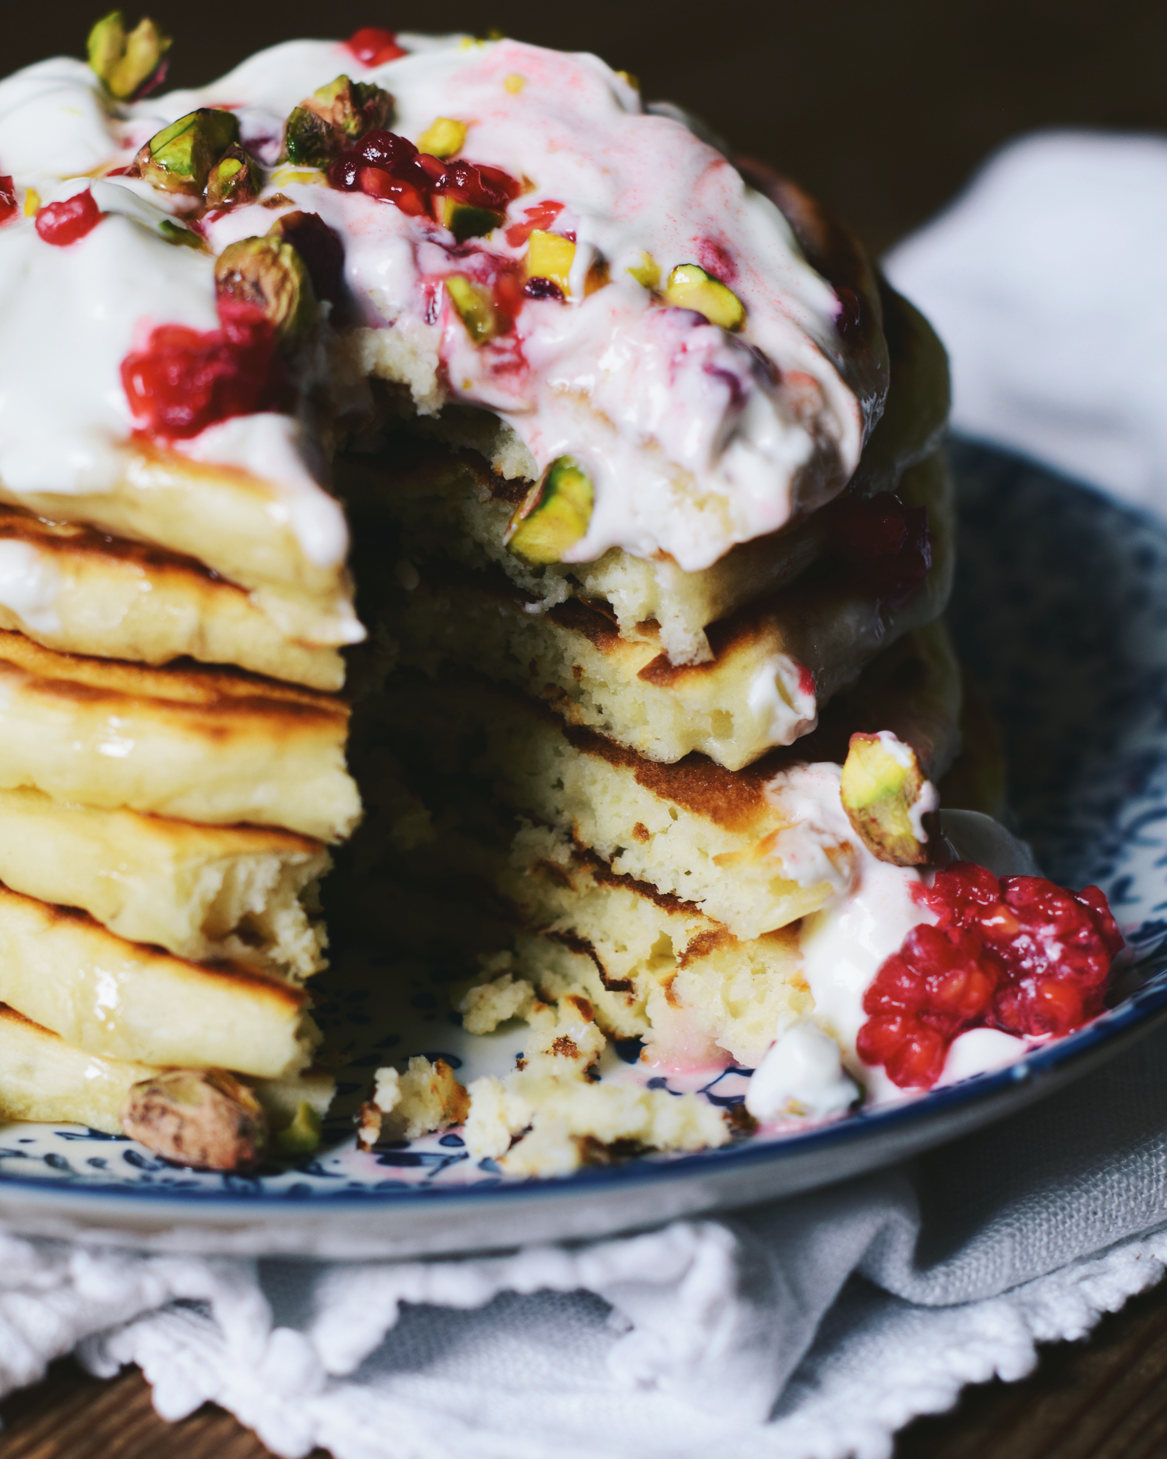
[[[524,562],[506,537],[531,481],[508,480],[512,444],[481,420],[448,413],[430,427],[445,442],[391,436],[340,464],[359,581],[376,581],[362,552],[395,559],[371,607],[398,646],[362,734],[375,811],[346,890],[359,916],[388,878],[403,937],[477,957],[471,1033],[527,1018],[519,1069],[470,1087],[471,1153],[512,1173],[729,1138],[710,1106],[643,1080],[614,1112],[630,1096],[613,1050],[665,1072],[756,1068],[814,1007],[799,919],[837,899],[855,855],[791,800],[798,775],[833,772],[837,805],[855,732],[894,734],[934,781],[960,753],[939,622],[947,368],[910,305],[871,303],[891,382],[849,489],[705,572],[619,550]]]

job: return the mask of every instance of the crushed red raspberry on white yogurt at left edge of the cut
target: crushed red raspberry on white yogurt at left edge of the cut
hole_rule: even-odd
[[[121,384],[140,430],[174,441],[229,416],[289,409],[276,333],[263,312],[220,299],[219,317],[222,330],[159,324],[146,349],[121,362]]]

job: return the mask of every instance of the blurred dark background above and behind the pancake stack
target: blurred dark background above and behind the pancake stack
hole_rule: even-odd
[[[108,3],[108,0],[106,0]],[[82,54],[102,0],[0,0],[0,70]],[[127,10],[134,22],[139,10]],[[497,28],[592,50],[646,98],[703,115],[884,249],[1007,137],[1043,125],[1167,131],[1163,0],[155,0],[171,79],[210,80],[296,35]]]

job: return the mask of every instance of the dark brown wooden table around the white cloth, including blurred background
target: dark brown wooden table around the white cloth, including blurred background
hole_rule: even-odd
[[[3,71],[80,51],[105,0],[4,7]],[[134,10],[134,15],[137,10]],[[171,79],[191,85],[287,35],[357,25],[497,26],[594,50],[649,96],[705,115],[735,147],[783,166],[850,219],[872,251],[941,207],[1008,137],[1043,125],[1167,131],[1167,6],[1152,0],[445,0],[429,7],[333,0],[241,6],[152,0],[175,35]],[[745,41],[747,44],[743,44]],[[1167,1214],[1167,1212],[1164,1212]],[[1033,1377],[966,1390],[920,1420],[899,1459],[1149,1459],[1167,1455],[1167,1288],[1082,1344],[1050,1348]],[[0,1405],[0,1459],[258,1459],[230,1415],[163,1424],[137,1371],[112,1382],[73,1363]]]

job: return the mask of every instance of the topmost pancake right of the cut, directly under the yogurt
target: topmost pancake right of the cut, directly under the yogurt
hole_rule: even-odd
[[[849,483],[850,496],[896,490],[903,473],[937,449],[948,416],[942,346],[894,290],[883,286],[881,295],[891,388]],[[427,449],[417,430],[465,449]],[[481,411],[451,407],[433,420],[413,423],[411,432],[389,435],[378,455],[337,460],[340,490],[359,516],[388,514],[400,524],[398,554],[414,566],[452,557],[467,568],[493,568],[531,603],[600,600],[610,605],[624,638],[648,638],[674,664],[705,662],[712,654],[705,632],[709,624],[796,579],[824,547],[827,519],[814,512],[780,533],[740,543],[700,572],[620,550],[595,562],[530,568],[503,544],[508,522],[531,484],[524,473],[534,468],[515,457],[508,427]],[[652,624],[648,632],[646,624]]]

